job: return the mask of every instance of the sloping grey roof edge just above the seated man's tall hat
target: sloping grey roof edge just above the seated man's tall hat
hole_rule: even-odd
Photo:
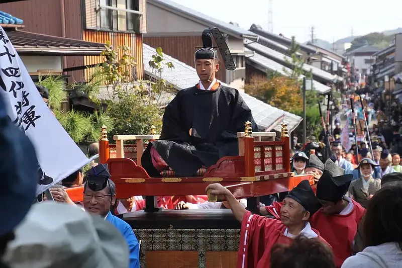
[[[227,34],[232,35],[235,34],[240,37],[250,37],[255,39],[257,38],[256,34],[250,31],[244,30],[233,24],[220,21],[206,14],[200,13],[196,10],[189,9],[171,0],[147,0],[147,3],[161,8],[168,8],[170,10],[179,12],[181,14],[188,16],[189,18],[195,19],[196,21],[202,21],[208,27],[218,27],[219,30]]]

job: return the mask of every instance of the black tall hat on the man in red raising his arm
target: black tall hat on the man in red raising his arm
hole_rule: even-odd
[[[286,195],[302,205],[313,216],[322,205],[318,201],[308,180],[301,181],[289,194]]]

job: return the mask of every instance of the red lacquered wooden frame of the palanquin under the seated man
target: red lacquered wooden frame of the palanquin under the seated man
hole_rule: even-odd
[[[293,176],[290,172],[290,161],[286,160],[290,152],[289,137],[283,131],[280,141],[254,141],[251,132],[247,133],[239,144],[244,146],[239,156],[226,156],[215,165],[209,167],[203,176],[197,177],[150,177],[146,170],[129,158],[109,158],[109,142],[99,141],[100,163],[108,163],[112,180],[116,184],[117,198],[132,196],[185,196],[205,195],[206,187],[211,183],[220,183],[227,187],[236,198],[259,197],[286,192],[293,189],[300,181],[309,180],[314,184],[312,175]],[[242,147],[243,147],[242,146]],[[268,146],[272,149],[273,170],[255,171],[255,147]],[[282,161],[276,169],[275,146],[280,146]],[[261,159],[265,156],[261,152]],[[279,167],[279,166],[278,166]],[[83,188],[75,188],[74,197],[79,196]],[[78,194],[77,194],[78,193]],[[80,200],[74,200],[80,201]]]

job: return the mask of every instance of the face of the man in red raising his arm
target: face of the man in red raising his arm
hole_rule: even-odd
[[[283,205],[280,208],[280,221],[284,226],[296,226],[303,221],[307,221],[310,217],[309,212],[303,212],[303,207],[294,199],[286,197],[283,200]]]

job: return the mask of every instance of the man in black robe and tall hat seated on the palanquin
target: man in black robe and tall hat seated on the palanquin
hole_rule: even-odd
[[[219,38],[217,28],[204,31],[204,47],[194,57],[199,82],[179,91],[166,107],[160,139],[150,142],[142,155],[142,166],[150,176],[160,176],[161,171],[169,168],[178,176],[196,175],[199,168],[210,167],[221,157],[238,155],[236,134],[244,132],[247,121],[258,132],[251,110],[239,92],[215,78],[220,65],[211,34],[217,39],[217,33]],[[225,66],[233,70],[233,59],[224,39],[216,41]]]

